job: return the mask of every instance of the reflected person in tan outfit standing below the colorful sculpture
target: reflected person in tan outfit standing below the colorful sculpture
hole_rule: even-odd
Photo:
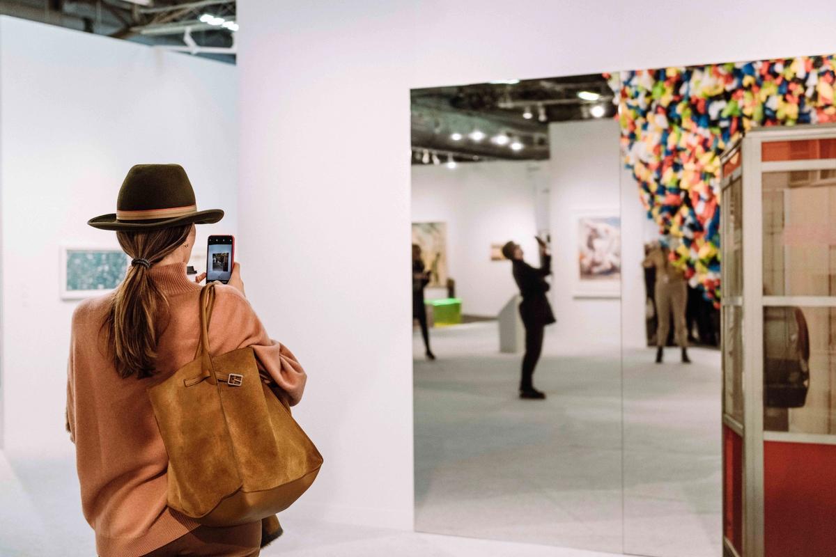
[[[642,261],[642,266],[654,267],[656,271],[656,363],[662,362],[665,343],[670,333],[670,318],[673,316],[676,344],[682,350],[682,362],[691,363],[688,357],[688,329],[686,306],[688,304],[688,283],[685,274],[670,262],[670,249],[657,245]]]

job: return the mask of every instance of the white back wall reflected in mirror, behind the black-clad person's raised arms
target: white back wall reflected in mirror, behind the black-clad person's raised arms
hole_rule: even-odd
[[[447,268],[467,315],[496,317],[518,293],[508,261],[491,261],[491,245],[509,240],[536,262],[536,188],[548,187],[548,161],[491,161],[412,166],[412,222],[447,225]],[[427,289],[427,299],[446,289]]]

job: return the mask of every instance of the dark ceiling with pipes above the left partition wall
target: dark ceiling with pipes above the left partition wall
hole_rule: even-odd
[[[0,14],[235,63],[234,0],[0,0]]]

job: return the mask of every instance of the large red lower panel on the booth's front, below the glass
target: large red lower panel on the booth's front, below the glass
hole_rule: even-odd
[[[836,555],[836,445],[763,443],[766,557]]]

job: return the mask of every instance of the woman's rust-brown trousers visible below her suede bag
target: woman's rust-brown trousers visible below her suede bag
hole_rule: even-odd
[[[261,553],[261,520],[241,526],[199,526],[143,557],[204,555],[209,557],[256,557]]]

